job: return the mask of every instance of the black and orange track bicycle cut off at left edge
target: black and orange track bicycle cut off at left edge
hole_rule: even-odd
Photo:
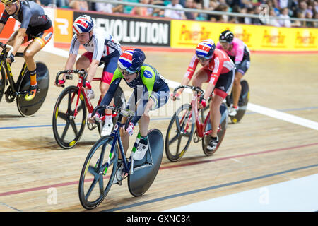
[[[20,114],[23,117],[30,117],[40,109],[45,101],[45,97],[47,97],[47,92],[49,90],[49,70],[44,63],[36,61],[37,85],[39,86],[39,89],[33,100],[26,101],[25,95],[30,88],[30,72],[28,71],[28,67],[24,61],[18,80],[15,82],[11,71],[11,64],[6,62],[7,56],[10,56],[13,52],[13,47],[2,42],[0,42],[0,47],[2,48],[0,55],[0,101],[3,95],[8,103],[16,100],[16,105]],[[23,56],[22,52],[17,52],[15,57]]]

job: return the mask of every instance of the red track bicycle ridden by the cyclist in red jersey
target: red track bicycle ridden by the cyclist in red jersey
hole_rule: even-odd
[[[208,114],[200,114],[198,109],[198,101],[204,96],[204,90],[191,85],[179,85],[175,88],[174,93],[179,89],[189,88],[194,91],[192,102],[184,104],[173,114],[170,124],[167,128],[165,137],[165,153],[168,160],[176,162],[186,153],[187,148],[194,138],[194,143],[202,141],[202,150],[206,156],[213,155],[218,150],[225,136],[228,126],[228,108],[225,103],[220,105],[221,120],[218,126],[218,145],[214,150],[208,150],[207,145],[211,141],[211,121],[210,111]],[[183,138],[183,139],[182,139]]]

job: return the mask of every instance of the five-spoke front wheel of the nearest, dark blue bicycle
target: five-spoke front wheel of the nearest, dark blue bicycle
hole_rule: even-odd
[[[97,207],[107,196],[112,186],[118,164],[118,146],[111,154],[112,136],[100,138],[90,149],[84,162],[78,184],[81,205],[90,210]]]

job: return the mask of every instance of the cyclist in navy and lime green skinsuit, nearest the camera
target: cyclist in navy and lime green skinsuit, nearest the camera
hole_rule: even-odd
[[[118,59],[118,67],[114,72],[110,88],[100,105],[109,105],[117,87],[124,79],[130,88],[134,89],[129,98],[127,109],[135,110],[135,115],[131,119],[126,131],[121,133],[124,151],[128,149],[129,135],[132,135],[134,126],[139,121],[139,131],[141,141],[134,153],[134,160],[141,160],[148,150],[148,126],[150,117],[148,112],[158,109],[167,103],[169,99],[169,87],[165,78],[158,71],[148,64],[143,64],[146,59],[141,49],[127,49]],[[138,102],[137,109],[136,103]],[[100,117],[104,112],[98,112],[90,120]]]

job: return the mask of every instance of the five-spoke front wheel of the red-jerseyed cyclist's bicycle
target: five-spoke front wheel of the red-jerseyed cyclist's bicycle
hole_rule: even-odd
[[[165,136],[165,154],[170,162],[180,160],[191,143],[194,133],[191,109],[189,104],[182,105],[170,120]]]

